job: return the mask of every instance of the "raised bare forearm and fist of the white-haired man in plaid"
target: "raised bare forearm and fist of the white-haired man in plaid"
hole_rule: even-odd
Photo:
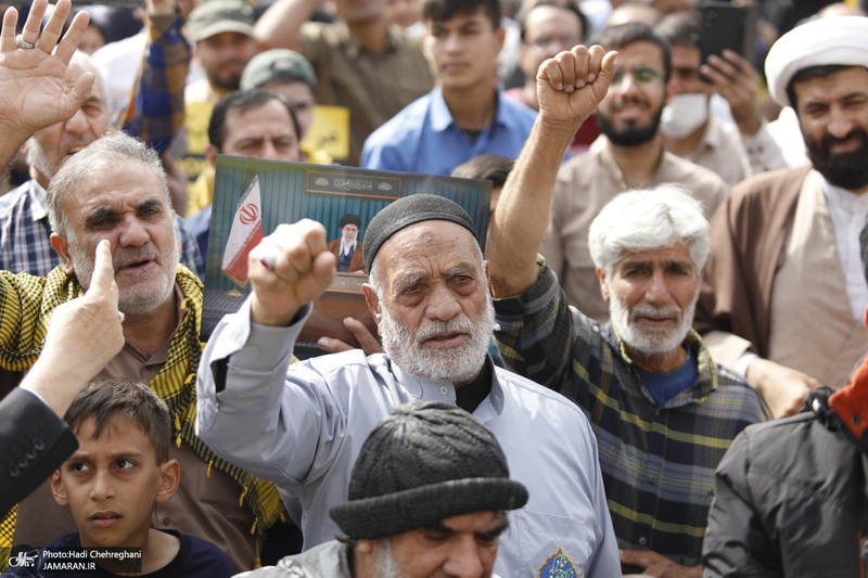
[[[605,97],[616,55],[599,46],[577,46],[540,65],[539,116],[489,223],[486,259],[495,297],[519,295],[536,283],[536,256],[549,223],[563,152]]]

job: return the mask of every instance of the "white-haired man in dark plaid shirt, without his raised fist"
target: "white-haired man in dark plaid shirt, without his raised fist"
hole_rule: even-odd
[[[503,188],[486,251],[495,338],[507,367],[590,419],[626,574],[698,577],[714,470],[765,411],[690,329],[709,223],[677,187],[623,193],[590,224],[611,324],[567,305],[537,252],[559,155],[583,120],[540,114]]]

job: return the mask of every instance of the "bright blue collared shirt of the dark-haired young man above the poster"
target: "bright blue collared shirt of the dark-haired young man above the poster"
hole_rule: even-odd
[[[535,119],[536,111],[498,91],[495,120],[474,140],[458,128],[443,92],[434,89],[368,137],[361,166],[448,177],[455,167],[474,156],[518,157]]]

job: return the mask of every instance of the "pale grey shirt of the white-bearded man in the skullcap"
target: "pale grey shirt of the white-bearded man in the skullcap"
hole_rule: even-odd
[[[374,424],[414,399],[456,399],[451,383],[420,380],[359,349],[290,364],[307,314],[289,327],[256,325],[245,304],[218,324],[196,382],[197,435],[222,458],[273,480],[284,502],[301,502],[306,549],[339,532],[328,511],[346,501],[353,464]],[[219,360],[227,359],[222,371]],[[518,578],[563,564],[577,576],[620,576],[597,441],[582,410],[497,368],[473,415],[531,492],[511,514],[496,571]]]

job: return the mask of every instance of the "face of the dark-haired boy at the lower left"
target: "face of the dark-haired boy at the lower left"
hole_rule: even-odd
[[[94,420],[77,432],[78,450],[51,475],[59,504],[68,506],[84,547],[142,547],[155,503],[175,493],[176,460],[158,464],[141,428],[112,416],[93,438]]]

